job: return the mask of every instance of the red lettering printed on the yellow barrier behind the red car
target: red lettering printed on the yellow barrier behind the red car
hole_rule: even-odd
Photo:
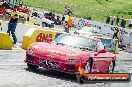
[[[43,34],[40,33],[37,38],[36,42],[51,42],[52,41],[52,34]]]

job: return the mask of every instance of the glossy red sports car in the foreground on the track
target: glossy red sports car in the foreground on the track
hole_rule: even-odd
[[[113,73],[116,56],[107,52],[99,39],[65,34],[50,43],[35,42],[26,51],[28,68],[39,67],[79,74]]]

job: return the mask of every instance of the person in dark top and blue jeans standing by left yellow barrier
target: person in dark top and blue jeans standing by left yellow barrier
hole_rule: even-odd
[[[14,16],[10,17],[10,21],[8,23],[8,30],[7,30],[7,33],[9,33],[9,35],[10,35],[10,32],[12,34],[12,37],[13,37],[13,40],[14,40],[13,44],[16,44],[16,42],[17,42],[17,38],[16,38],[16,35],[15,35],[15,29],[16,29],[17,21],[18,21],[17,16],[18,15],[15,14]]]

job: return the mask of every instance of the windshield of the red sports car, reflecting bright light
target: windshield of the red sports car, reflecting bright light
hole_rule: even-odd
[[[55,43],[77,48],[95,49],[96,41],[81,36],[62,35],[55,39]]]

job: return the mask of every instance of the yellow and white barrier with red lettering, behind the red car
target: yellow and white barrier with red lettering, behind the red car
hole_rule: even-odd
[[[30,29],[26,32],[22,41],[22,48],[27,47],[34,42],[51,42],[63,32],[44,30],[44,29]]]

